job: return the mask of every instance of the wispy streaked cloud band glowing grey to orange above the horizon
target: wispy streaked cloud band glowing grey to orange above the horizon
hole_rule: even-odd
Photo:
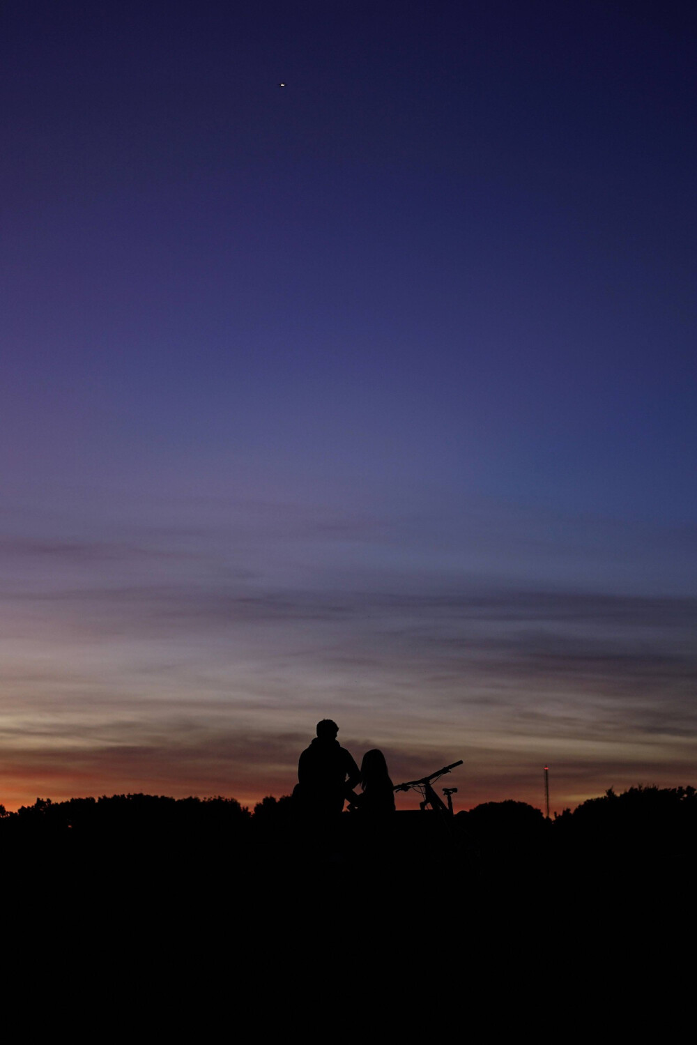
[[[287,790],[326,714],[356,754],[386,748],[395,776],[466,757],[470,785],[504,796],[527,793],[540,760],[563,762],[572,790],[602,790],[612,765],[635,783],[642,767],[690,764],[697,600],[373,571],[390,538],[371,520],[242,515],[232,537],[185,519],[0,543],[6,772],[67,789]],[[286,524],[297,540],[281,547]],[[326,570],[321,549],[308,570],[264,561],[326,542]]]

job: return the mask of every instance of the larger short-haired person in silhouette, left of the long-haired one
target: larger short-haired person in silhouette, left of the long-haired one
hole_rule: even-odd
[[[352,756],[336,740],[338,733],[339,726],[331,719],[318,722],[317,737],[298,763],[294,794],[306,814],[323,819],[339,816],[361,780]]]

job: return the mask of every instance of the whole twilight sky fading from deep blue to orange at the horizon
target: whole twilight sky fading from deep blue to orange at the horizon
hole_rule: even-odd
[[[697,783],[695,4],[0,20],[0,803]]]

